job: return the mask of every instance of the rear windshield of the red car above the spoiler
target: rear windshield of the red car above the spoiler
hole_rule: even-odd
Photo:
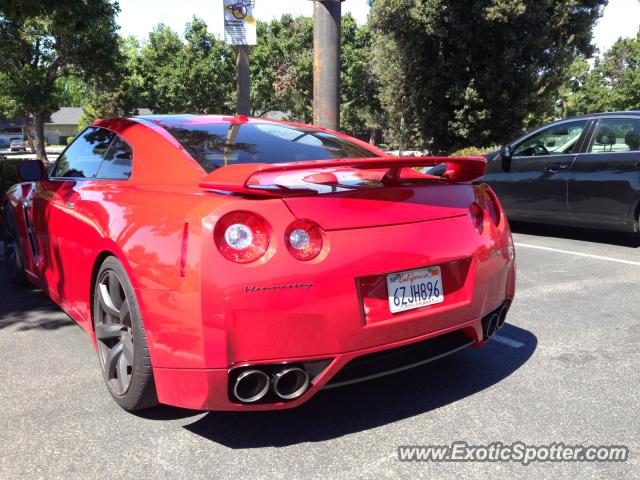
[[[207,172],[240,163],[365,158],[374,152],[311,127],[272,123],[162,125]]]

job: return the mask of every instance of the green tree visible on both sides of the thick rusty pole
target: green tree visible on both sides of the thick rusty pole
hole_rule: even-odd
[[[371,36],[353,16],[342,17],[341,125],[352,132],[378,126],[380,105],[369,57]],[[254,115],[283,111],[288,118],[313,116],[313,20],[284,15],[258,22],[258,45],[251,50]]]

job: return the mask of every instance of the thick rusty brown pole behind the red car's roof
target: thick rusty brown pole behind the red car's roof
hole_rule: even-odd
[[[342,2],[313,2],[313,123],[340,128],[340,34]]]

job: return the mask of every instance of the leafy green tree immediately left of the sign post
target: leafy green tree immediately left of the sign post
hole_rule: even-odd
[[[195,17],[187,24],[185,39],[162,24],[149,35],[138,69],[146,106],[157,113],[233,112],[233,50]]]

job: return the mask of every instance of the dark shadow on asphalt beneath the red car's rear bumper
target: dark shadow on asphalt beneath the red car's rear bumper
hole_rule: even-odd
[[[484,348],[347,387],[319,392],[306,404],[274,412],[209,412],[185,428],[230,448],[320,442],[436,410],[489,388],[524,365],[535,335],[513,325]],[[185,417],[193,412],[181,411]]]

